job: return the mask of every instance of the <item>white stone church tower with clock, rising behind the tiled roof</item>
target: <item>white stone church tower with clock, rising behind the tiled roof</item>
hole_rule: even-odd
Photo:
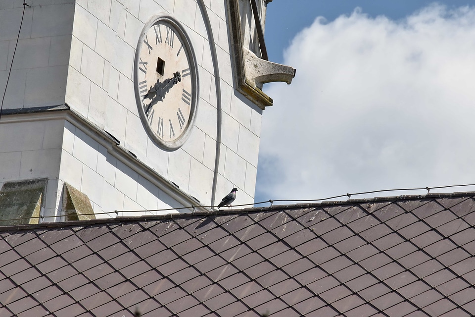
[[[269,0],[0,4],[1,224],[254,200]]]

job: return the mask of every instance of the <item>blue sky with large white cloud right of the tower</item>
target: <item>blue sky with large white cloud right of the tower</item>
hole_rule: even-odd
[[[475,183],[475,0],[273,0],[265,40],[297,71],[264,85],[255,202]]]

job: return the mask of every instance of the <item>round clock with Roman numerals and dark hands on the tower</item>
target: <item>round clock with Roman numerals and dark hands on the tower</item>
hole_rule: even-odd
[[[139,115],[167,150],[181,147],[194,125],[198,73],[190,38],[173,16],[155,15],[142,29],[134,65]]]

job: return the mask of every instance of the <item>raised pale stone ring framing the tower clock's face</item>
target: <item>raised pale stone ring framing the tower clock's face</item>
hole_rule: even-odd
[[[190,73],[191,73],[191,87],[192,87],[192,94],[191,94],[191,106],[190,106],[190,120],[188,121],[188,125],[185,128],[185,132],[182,135],[174,140],[174,141],[164,141],[159,138],[155,131],[152,130],[150,125],[148,124],[145,111],[142,107],[142,99],[140,96],[139,91],[139,60],[140,60],[140,53],[144,46],[143,40],[145,38],[145,34],[147,31],[158,21],[164,21],[170,23],[175,30],[178,32],[181,40],[183,41],[184,49],[188,53],[189,62],[190,62]],[[145,126],[145,130],[147,131],[148,135],[152,138],[152,140],[160,147],[166,150],[177,150],[179,149],[187,139],[190,137],[191,130],[194,126],[194,122],[196,120],[196,110],[198,107],[198,71],[197,71],[197,63],[196,63],[196,56],[194,54],[193,47],[191,46],[190,38],[188,34],[184,31],[184,27],[182,24],[172,15],[169,14],[156,14],[150,17],[148,21],[143,26],[142,32],[140,33],[139,42],[137,43],[137,50],[135,52],[135,60],[134,60],[134,92],[135,92],[135,100],[139,110],[139,116],[142,120],[142,124]]]

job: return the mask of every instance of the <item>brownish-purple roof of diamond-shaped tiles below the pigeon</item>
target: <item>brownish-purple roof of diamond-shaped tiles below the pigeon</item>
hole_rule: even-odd
[[[0,316],[474,316],[474,199],[1,227]]]

